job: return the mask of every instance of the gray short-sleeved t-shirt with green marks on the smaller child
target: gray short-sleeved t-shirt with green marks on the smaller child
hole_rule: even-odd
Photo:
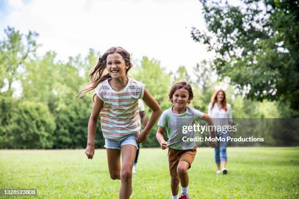
[[[158,125],[165,128],[168,135],[168,147],[177,150],[188,150],[196,146],[194,141],[183,141],[183,137],[195,138],[194,131],[188,131],[184,134],[183,126],[193,126],[195,120],[203,117],[203,113],[187,106],[186,112],[183,114],[175,114],[172,112],[172,107],[163,111]]]

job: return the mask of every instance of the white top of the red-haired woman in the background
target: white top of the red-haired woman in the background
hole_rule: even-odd
[[[228,125],[229,122],[233,122],[232,107],[228,103],[226,104],[226,107],[227,111],[224,109],[219,110],[218,104],[215,102],[213,109],[211,109],[212,103],[209,104],[208,115],[213,118],[216,127]]]

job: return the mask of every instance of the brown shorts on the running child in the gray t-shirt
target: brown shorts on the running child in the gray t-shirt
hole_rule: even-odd
[[[189,150],[176,150],[168,147],[168,162],[169,162],[169,173],[171,176],[177,176],[176,168],[179,161],[186,161],[189,163],[189,168],[195,158],[196,146]]]

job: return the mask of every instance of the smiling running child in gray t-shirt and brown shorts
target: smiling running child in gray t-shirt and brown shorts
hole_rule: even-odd
[[[194,119],[204,119],[210,126],[213,121],[210,116],[198,110],[188,107],[193,99],[192,87],[186,81],[179,81],[171,87],[169,100],[173,103],[171,108],[165,110],[158,122],[157,140],[162,149],[168,148],[169,170],[171,176],[172,199],[178,199],[178,185],[181,183],[180,199],[189,199],[189,177],[187,170],[191,167],[196,154],[194,141],[183,141],[184,137],[194,138],[195,132],[182,133],[182,126],[194,124]],[[163,132],[167,130],[168,141],[164,140]],[[213,128],[214,129],[214,128]],[[211,132],[215,138],[215,132]],[[209,143],[212,148],[216,142]]]

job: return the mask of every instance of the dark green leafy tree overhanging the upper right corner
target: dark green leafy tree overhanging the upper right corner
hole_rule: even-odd
[[[200,1],[209,32],[193,28],[191,34],[215,52],[219,77],[229,77],[248,98],[299,110],[299,2]]]

